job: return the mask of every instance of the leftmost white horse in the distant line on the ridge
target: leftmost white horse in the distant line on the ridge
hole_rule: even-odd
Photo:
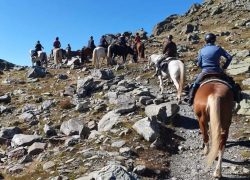
[[[46,52],[38,51],[37,56],[33,56],[34,53],[35,53],[35,50],[30,50],[30,57],[31,57],[32,66],[34,66],[34,64],[36,64],[37,66],[45,65],[45,67],[47,67],[48,59],[47,59]]]

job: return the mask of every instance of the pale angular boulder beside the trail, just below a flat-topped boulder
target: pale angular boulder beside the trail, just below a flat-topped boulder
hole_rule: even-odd
[[[149,142],[153,142],[159,137],[160,126],[155,120],[141,119],[133,125],[133,128]]]

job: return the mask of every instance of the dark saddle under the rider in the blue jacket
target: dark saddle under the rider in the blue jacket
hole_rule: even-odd
[[[222,73],[207,73],[201,78],[200,87],[209,82],[220,82],[227,85],[230,89],[233,89],[231,77]]]

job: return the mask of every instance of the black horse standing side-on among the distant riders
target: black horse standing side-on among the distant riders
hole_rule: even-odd
[[[111,65],[115,64],[114,58],[116,56],[121,56],[123,63],[125,63],[128,54],[131,54],[134,57],[134,50],[130,46],[121,46],[118,44],[111,44],[108,46],[108,62]]]

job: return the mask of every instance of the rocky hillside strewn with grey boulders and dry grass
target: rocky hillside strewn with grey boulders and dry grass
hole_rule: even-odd
[[[186,85],[199,71],[194,60],[207,32],[234,55],[227,73],[241,84],[244,100],[234,110],[225,150],[228,179],[250,175],[249,14],[249,0],[206,0],[158,23],[145,42],[149,57],[174,36]],[[90,63],[5,69],[5,62],[0,60],[0,179],[211,179],[192,107],[177,104],[169,79],[159,93],[147,59],[123,65],[118,58],[121,65],[100,70]]]

